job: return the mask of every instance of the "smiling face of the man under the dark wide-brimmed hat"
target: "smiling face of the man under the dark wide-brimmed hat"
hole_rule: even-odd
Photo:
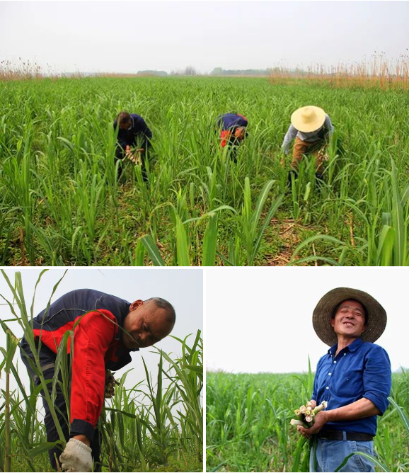
[[[358,338],[366,329],[364,307],[355,300],[345,300],[338,307],[330,324],[338,336]]]

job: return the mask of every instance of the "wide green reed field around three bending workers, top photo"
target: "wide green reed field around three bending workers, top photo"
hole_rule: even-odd
[[[249,78],[0,82],[0,264],[340,265],[409,263],[409,96]],[[335,125],[326,181],[306,162],[287,188],[282,139],[300,106]],[[117,182],[112,122],[154,133],[149,185]],[[221,149],[217,115],[249,136]]]

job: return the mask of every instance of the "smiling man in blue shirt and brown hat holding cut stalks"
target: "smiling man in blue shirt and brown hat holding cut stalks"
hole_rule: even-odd
[[[313,328],[330,346],[319,361],[313,384],[313,408],[323,401],[327,409],[316,414],[310,428],[298,426],[306,438],[315,435],[311,472],[374,472],[374,464],[355,452],[374,455],[376,416],[388,407],[391,363],[376,341],[384,332],[384,307],[367,292],[348,287],[331,290],[313,312]]]

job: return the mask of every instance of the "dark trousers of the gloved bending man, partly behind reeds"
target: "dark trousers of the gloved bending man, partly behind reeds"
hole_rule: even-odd
[[[37,342],[35,343],[35,346],[36,348],[38,348]],[[27,367],[28,373],[33,379],[35,386],[37,387],[40,384],[40,378],[34,374],[26,358],[26,355],[27,355],[29,358],[31,358],[31,360],[34,361],[34,355],[33,353],[31,353],[30,346],[28,345],[28,343],[25,341],[24,338],[21,340],[20,348],[21,348],[20,350],[21,359],[23,360],[23,363]],[[45,380],[46,381],[51,380],[52,377],[54,377],[54,369],[55,369],[54,365],[55,365],[56,355],[50,350],[50,348],[47,348],[47,346],[45,345],[42,345],[39,355],[40,355],[40,365],[41,365],[42,373],[45,377]],[[61,373],[59,373],[59,380],[62,382]],[[47,389],[51,395],[52,383],[47,384]],[[58,384],[57,384],[56,389],[57,389],[57,397],[55,398],[55,402],[54,402],[55,413],[57,414],[57,418],[62,428],[62,432],[64,433],[65,440],[68,442],[70,435],[69,435],[69,424],[68,424],[69,418],[67,418],[67,406],[65,404],[65,399],[64,399],[64,395],[62,394],[62,390],[60,389]],[[57,440],[59,440],[59,435],[58,435],[54,420],[52,419],[50,408],[47,404],[47,399],[45,399],[45,394],[43,390],[41,390],[41,397],[42,397],[42,405],[44,406],[44,409],[45,409],[44,423],[45,423],[45,430],[47,431],[47,442],[56,442]],[[95,431],[95,434],[93,436],[93,440],[91,442],[91,450],[92,450],[93,460],[95,462],[94,471],[100,472],[101,471],[100,433],[98,432],[98,430]],[[48,451],[51,466],[55,471],[57,471],[57,462],[55,461],[54,453],[57,456],[59,465],[61,465],[61,462],[59,461],[59,455],[62,454],[61,447],[54,447]]]

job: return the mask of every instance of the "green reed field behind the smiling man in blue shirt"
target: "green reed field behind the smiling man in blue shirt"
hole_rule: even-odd
[[[392,375],[391,404],[374,439],[376,471],[409,469],[409,372]],[[313,373],[206,375],[208,472],[308,472],[309,443],[290,426],[311,398]]]

